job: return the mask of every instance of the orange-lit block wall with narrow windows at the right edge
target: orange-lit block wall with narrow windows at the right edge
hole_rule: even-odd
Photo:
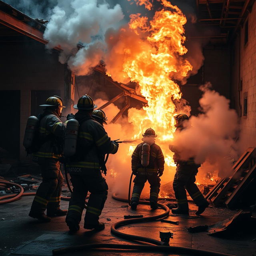
[[[245,44],[246,21],[248,20],[248,42]],[[256,4],[244,21],[240,35],[240,77],[242,79],[241,150],[256,147]],[[248,112],[244,116],[244,94],[248,95]]]

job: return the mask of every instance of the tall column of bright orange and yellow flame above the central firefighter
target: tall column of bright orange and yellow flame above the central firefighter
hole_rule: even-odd
[[[139,122],[138,127],[142,127],[144,120],[150,120],[159,139],[166,141],[172,140],[175,131],[173,116],[176,107],[172,100],[181,98],[180,88],[170,76],[172,73],[180,73],[185,77],[188,71],[192,70],[192,66],[188,60],[178,57],[187,52],[183,45],[186,40],[183,27],[186,24],[186,17],[177,6],[172,6],[167,1],[162,3],[173,10],[163,8],[156,12],[149,24],[148,18],[140,14],[130,16],[130,28],[137,34],[140,29],[142,36],[147,33],[146,40],[152,48],[150,52],[146,52],[145,49],[135,58],[127,59],[123,67],[130,79],[138,82],[141,94],[148,100],[148,106],[144,107],[146,116],[136,117],[132,122]],[[135,137],[140,136],[143,128]],[[166,164],[173,166],[170,152],[165,155]]]

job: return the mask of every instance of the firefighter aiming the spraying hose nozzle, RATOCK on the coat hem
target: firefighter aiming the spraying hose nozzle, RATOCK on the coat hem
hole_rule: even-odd
[[[79,122],[76,154],[67,163],[73,193],[70,199],[66,223],[71,233],[79,230],[88,191],[90,198],[84,218],[84,228],[102,230],[105,225],[99,216],[108,195],[108,185],[102,177],[100,167],[104,154],[115,154],[118,144],[111,141],[103,126],[92,118],[97,106],[88,95],[82,96],[74,108],[78,109],[75,119]]]

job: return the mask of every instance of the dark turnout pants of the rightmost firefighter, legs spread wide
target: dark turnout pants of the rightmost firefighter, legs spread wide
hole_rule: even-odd
[[[178,164],[173,181],[173,189],[178,203],[178,208],[188,210],[186,190],[197,206],[207,204],[206,199],[194,183],[198,166]]]

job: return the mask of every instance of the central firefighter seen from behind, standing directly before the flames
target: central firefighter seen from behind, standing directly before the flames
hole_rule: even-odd
[[[155,131],[151,128],[142,134],[142,143],[138,144],[132,154],[132,173],[134,178],[134,187],[132,191],[131,208],[136,210],[140,200],[140,194],[144,188],[145,182],[148,180],[150,184],[150,207],[157,208],[158,193],[160,191],[160,177],[164,172],[164,155],[160,146],[155,144],[157,137]],[[142,146],[149,144],[150,150],[148,166],[142,165]]]

